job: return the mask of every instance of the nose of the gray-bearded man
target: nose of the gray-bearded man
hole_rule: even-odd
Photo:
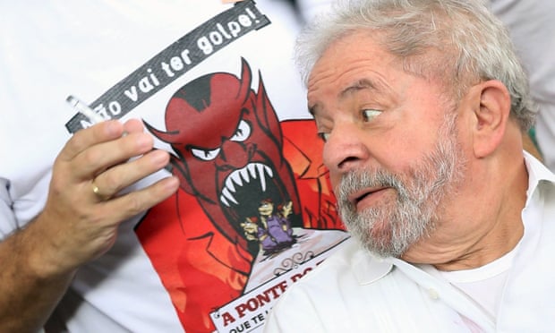
[[[323,162],[332,173],[343,174],[369,158],[364,131],[354,123],[334,124],[323,150]]]

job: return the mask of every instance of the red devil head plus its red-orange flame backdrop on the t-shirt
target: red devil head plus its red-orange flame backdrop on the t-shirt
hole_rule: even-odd
[[[295,160],[308,158],[296,153],[302,140],[284,140],[283,128],[292,127],[279,123],[260,73],[257,92],[251,84],[242,59],[240,77],[209,73],[177,90],[166,106],[165,131],[146,124],[174,150],[172,172],[181,189],[150,209],[136,230],[187,331],[212,332],[209,313],[243,294],[253,261],[264,253],[262,237],[245,229],[245,221],[260,215],[261,201],[284,208],[277,210],[286,211],[287,228],[340,228],[318,166],[293,168],[284,157],[286,150]],[[296,123],[304,131],[312,125]],[[306,147],[320,155],[313,142]],[[309,208],[300,198],[315,203]],[[278,251],[295,243],[274,238]]]

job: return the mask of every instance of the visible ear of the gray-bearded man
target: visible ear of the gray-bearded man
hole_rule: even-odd
[[[503,140],[510,113],[510,95],[501,81],[490,80],[474,85],[467,98],[474,112],[474,155],[483,158]]]

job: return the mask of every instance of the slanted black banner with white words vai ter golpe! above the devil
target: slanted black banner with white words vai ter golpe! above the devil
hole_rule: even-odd
[[[239,2],[179,38],[107,90],[90,107],[104,119],[119,119],[209,55],[243,37],[247,32],[259,30],[269,23],[266,15],[256,8],[254,1]],[[74,133],[90,125],[90,120],[78,113],[73,115],[65,127]]]

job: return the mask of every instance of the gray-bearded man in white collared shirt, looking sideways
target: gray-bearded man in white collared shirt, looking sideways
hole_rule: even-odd
[[[353,239],[266,331],[552,329],[555,175],[523,152],[527,78],[482,2],[343,4],[297,60]]]

